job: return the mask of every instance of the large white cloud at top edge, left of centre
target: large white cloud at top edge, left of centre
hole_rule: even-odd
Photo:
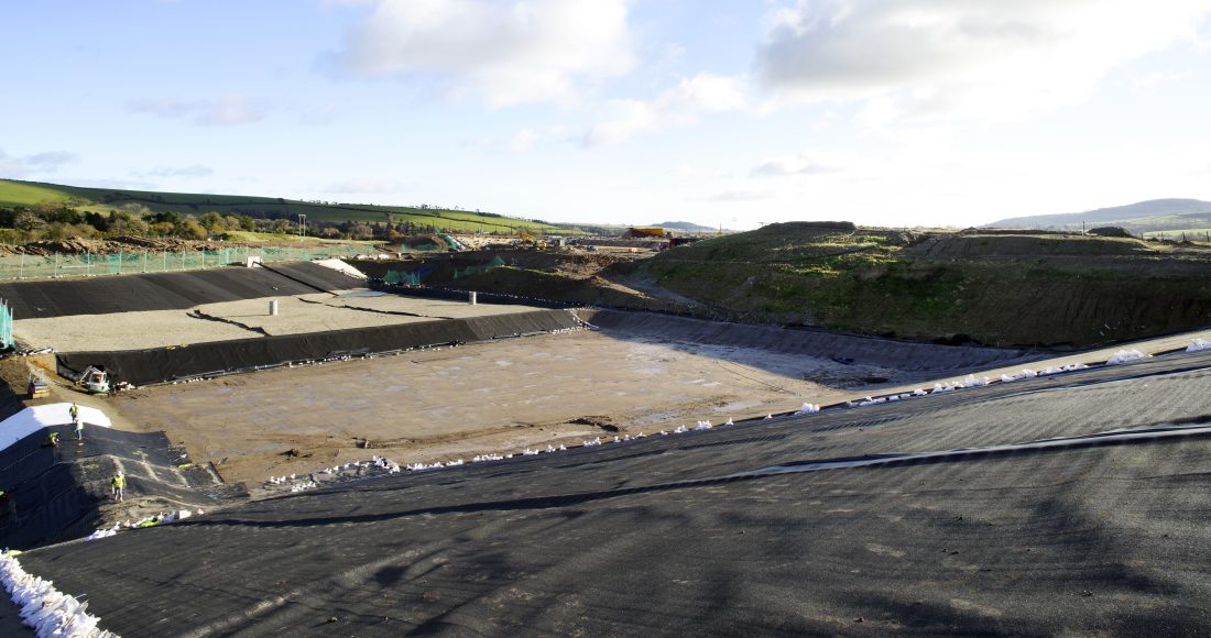
[[[436,77],[490,107],[576,100],[635,65],[629,0],[381,0],[333,54],[355,75]]]

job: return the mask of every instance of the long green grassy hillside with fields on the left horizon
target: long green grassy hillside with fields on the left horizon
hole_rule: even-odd
[[[237,213],[254,218],[288,218],[308,215],[310,222],[391,222],[400,224],[432,225],[438,230],[455,232],[575,232],[568,228],[469,211],[443,208],[418,208],[409,206],[374,206],[356,203],[317,203],[281,197],[254,197],[245,195],[206,195],[190,192],[154,192],[142,190],[94,189],[65,186],[35,182],[0,179],[0,206],[30,206],[46,200],[76,200],[81,208],[97,212],[115,209],[122,205],[143,205],[155,212]]]

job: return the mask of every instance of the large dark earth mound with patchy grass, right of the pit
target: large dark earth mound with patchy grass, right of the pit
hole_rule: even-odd
[[[773,224],[630,276],[731,318],[912,339],[1084,346],[1211,324],[1211,247],[1142,240]]]

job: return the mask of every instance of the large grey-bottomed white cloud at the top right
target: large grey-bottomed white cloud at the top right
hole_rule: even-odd
[[[1005,119],[1083,100],[1110,70],[1194,41],[1211,0],[799,0],[756,71],[781,99],[883,98],[884,119]]]

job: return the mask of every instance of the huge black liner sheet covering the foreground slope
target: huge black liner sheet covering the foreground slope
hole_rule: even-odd
[[[1171,361],[325,487],[21,562],[122,636],[1206,636],[1207,437],[727,478],[1204,414],[1211,373],[1166,368],[1211,354]]]

